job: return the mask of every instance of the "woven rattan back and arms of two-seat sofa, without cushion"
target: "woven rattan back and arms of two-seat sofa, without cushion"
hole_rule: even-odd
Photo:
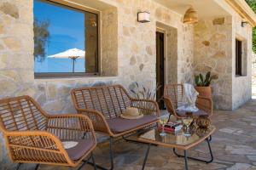
[[[114,134],[108,127],[107,119],[118,117],[127,107],[137,107],[143,114],[160,116],[158,105],[149,99],[132,99],[120,85],[76,88],[72,90],[76,110],[89,116],[96,131]],[[135,130],[135,129],[133,129]]]

